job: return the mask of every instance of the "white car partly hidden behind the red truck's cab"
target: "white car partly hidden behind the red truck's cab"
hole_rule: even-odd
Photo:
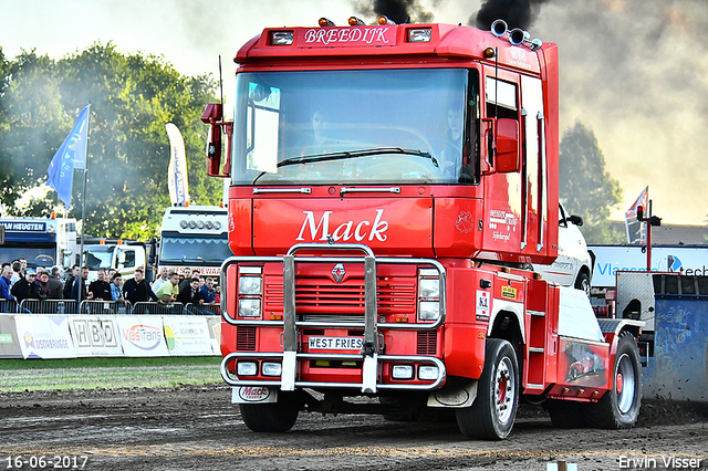
[[[550,265],[534,264],[533,271],[541,273],[544,280],[583,290],[590,296],[594,257],[587,251],[580,226],[583,226],[583,219],[569,216],[559,205],[558,258]]]

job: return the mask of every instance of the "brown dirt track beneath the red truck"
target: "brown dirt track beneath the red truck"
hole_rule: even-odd
[[[700,459],[697,469],[708,470],[706,405],[645,400],[637,427],[616,431],[553,429],[540,408],[523,406],[509,439],[486,442],[466,440],[454,422],[378,416],[303,414],[288,433],[253,433],[223,386],[0,398],[0,469],[8,457],[45,456],[53,464],[55,456],[85,456],[88,470],[534,471],[565,460],[585,471],[674,469],[664,464],[671,458]]]

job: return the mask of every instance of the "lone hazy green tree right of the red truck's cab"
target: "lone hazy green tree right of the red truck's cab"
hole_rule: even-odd
[[[592,129],[581,123],[563,134],[559,149],[559,192],[565,209],[583,217],[589,243],[620,243],[610,212],[622,202],[620,182],[605,170],[605,157]]]

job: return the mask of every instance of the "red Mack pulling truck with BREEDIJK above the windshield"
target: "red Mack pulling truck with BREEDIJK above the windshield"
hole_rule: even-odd
[[[635,423],[641,322],[532,271],[558,254],[555,44],[353,17],[266,29],[235,62],[233,121],[202,121],[231,184],[221,375],[251,430],[448,411],[503,439],[520,400]]]

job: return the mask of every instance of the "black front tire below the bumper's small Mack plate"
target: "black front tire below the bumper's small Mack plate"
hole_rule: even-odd
[[[278,402],[239,404],[239,410],[252,431],[284,432],[295,425],[302,404],[299,394],[278,391]]]

